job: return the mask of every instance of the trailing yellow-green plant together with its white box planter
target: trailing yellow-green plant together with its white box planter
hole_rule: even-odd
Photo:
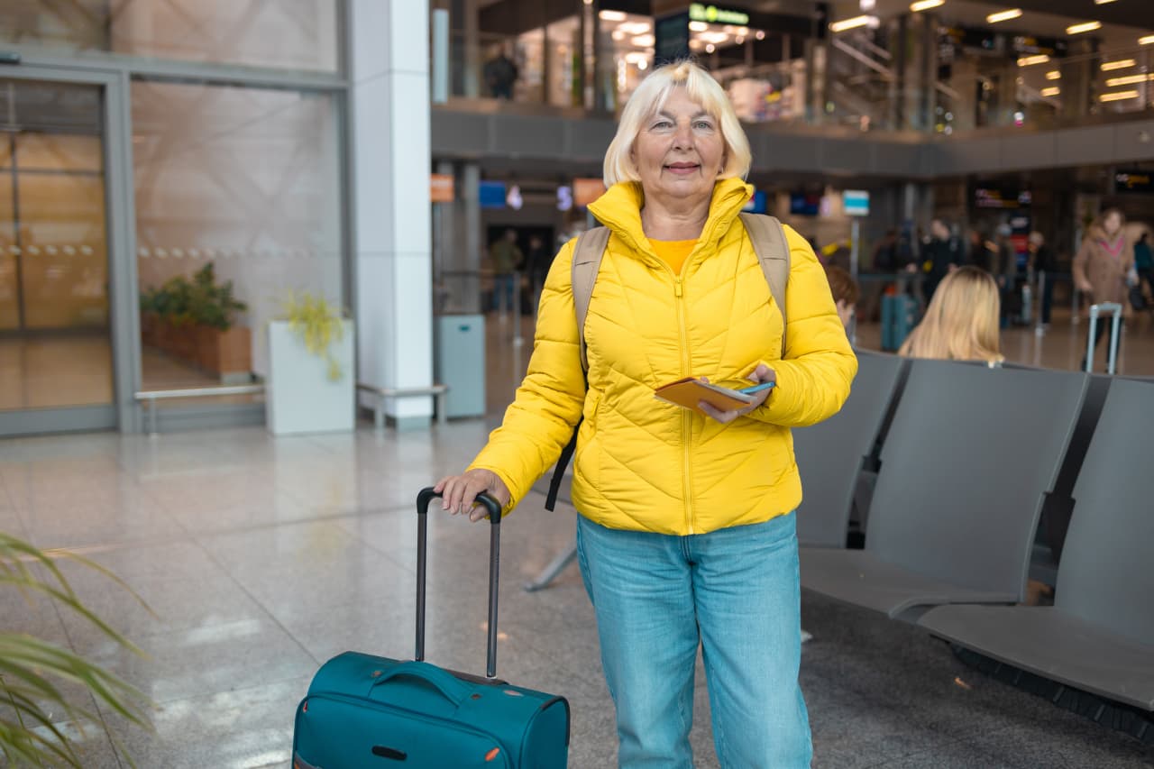
[[[353,323],[324,297],[299,292],[269,323],[265,418],[275,435],[347,432],[355,421]]]

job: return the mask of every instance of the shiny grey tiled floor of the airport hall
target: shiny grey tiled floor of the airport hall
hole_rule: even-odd
[[[77,592],[145,652],[108,643],[76,617],[0,593],[2,627],[97,659],[155,702],[143,733],[99,710],[84,767],[285,767],[292,717],[328,657],[412,651],[415,491],[459,469],[486,424],[428,432],[272,439],[260,428],[0,442],[0,528],[111,568],[60,561]],[[530,580],[571,540],[574,513],[533,494],[504,524],[499,672],[574,707],[570,766],[614,766],[612,704],[592,611],[576,569],[548,590]],[[430,522],[428,656],[484,666],[482,524]],[[1148,767],[1154,751],[957,662],[924,633],[814,596],[802,684],[815,767]],[[703,682],[700,672],[699,682]],[[91,703],[89,703],[91,707]],[[692,736],[717,761],[698,687]]]

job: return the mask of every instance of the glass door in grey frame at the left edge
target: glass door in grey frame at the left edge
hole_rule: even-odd
[[[115,425],[106,90],[0,77],[0,434]]]

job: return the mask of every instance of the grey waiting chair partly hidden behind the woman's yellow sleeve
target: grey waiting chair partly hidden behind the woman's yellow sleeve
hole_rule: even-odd
[[[857,376],[841,411],[812,427],[793,431],[803,495],[797,508],[800,544],[846,546],[862,461],[874,450],[908,363],[897,356],[859,351]]]

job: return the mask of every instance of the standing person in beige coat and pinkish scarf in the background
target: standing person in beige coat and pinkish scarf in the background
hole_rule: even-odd
[[[1114,301],[1126,306],[1129,284],[1134,281],[1134,245],[1126,239],[1125,216],[1109,208],[1095,219],[1074,256],[1074,286],[1091,298],[1092,304]],[[1099,323],[1094,348],[1106,333]],[[1082,368],[1086,361],[1082,361]]]

